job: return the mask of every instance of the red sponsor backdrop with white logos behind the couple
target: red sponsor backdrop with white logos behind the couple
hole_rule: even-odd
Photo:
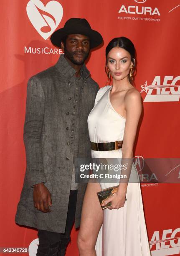
[[[99,87],[106,85],[105,47],[109,41],[125,36],[134,43],[135,84],[143,100],[134,151],[138,166],[144,158],[180,156],[179,0],[2,0],[0,247],[29,248],[30,256],[37,251],[37,231],[14,221],[26,165],[23,124],[27,81],[56,63],[62,51],[49,38],[72,17],[86,18],[104,38],[104,45],[91,52],[87,63]],[[148,182],[156,179],[153,173],[139,177]],[[142,183],[141,187],[152,255],[179,255],[179,184]],[[78,230],[71,234],[67,255],[77,256]]]

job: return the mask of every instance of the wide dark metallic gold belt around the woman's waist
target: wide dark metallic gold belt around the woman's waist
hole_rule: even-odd
[[[122,148],[123,141],[97,143],[91,142],[91,149],[94,151],[109,151]],[[118,146],[120,144],[120,146]]]

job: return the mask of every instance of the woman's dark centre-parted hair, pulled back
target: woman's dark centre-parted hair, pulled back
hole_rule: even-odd
[[[134,44],[132,43],[131,40],[129,40],[127,37],[121,36],[121,37],[116,37],[112,39],[109,44],[106,47],[106,66],[107,66],[107,55],[109,54],[109,51],[113,49],[114,47],[120,47],[126,51],[129,52],[131,55],[131,61],[134,65],[134,70],[136,68],[136,51],[134,48]],[[105,69],[106,70],[106,69]],[[129,77],[129,82],[133,84],[133,77],[134,77],[134,72],[133,72],[133,77],[130,77],[130,74],[128,75]]]

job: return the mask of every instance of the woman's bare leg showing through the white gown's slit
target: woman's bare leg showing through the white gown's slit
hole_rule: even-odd
[[[103,222],[103,210],[96,194],[99,191],[101,191],[99,183],[88,183],[84,195],[78,235],[80,256],[96,256],[96,240]]]

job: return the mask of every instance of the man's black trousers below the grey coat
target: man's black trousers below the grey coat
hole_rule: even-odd
[[[39,246],[37,256],[64,256],[71,241],[71,229],[76,212],[77,190],[70,190],[65,233],[38,230]],[[61,216],[59,217],[61,218]]]

